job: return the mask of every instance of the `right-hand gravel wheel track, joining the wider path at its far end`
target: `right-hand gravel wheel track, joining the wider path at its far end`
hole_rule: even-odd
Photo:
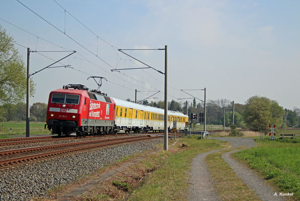
[[[232,144],[232,148],[246,146],[247,148],[255,146],[253,139],[249,138],[213,138],[222,141],[228,141]],[[248,168],[246,165],[241,164],[230,157],[231,153],[238,152],[243,149],[233,150],[222,154],[222,158],[231,166],[236,174],[251,188],[253,189],[264,201],[270,200],[286,200],[282,196],[274,196],[275,192],[278,191],[270,187],[267,182],[259,177],[256,172]]]

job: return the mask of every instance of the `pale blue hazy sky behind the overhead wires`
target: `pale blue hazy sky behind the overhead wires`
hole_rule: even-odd
[[[56,0],[66,13],[54,1],[19,1],[90,51],[19,2],[2,1],[0,18],[38,36],[0,20],[17,43],[37,51],[77,51],[61,62],[73,69],[46,69],[33,76],[36,93],[31,104],[47,103],[51,90],[68,83],[97,88],[93,80],[87,80],[91,75],[108,79],[101,90],[110,96],[134,99],[135,89],[161,90],[154,100],[163,100],[164,76],[157,71],[110,69],[144,67],[118,48],[168,45],[169,101],[189,97],[180,89],[206,87],[207,99],[244,104],[260,95],[277,100],[283,108],[300,108],[300,1]],[[16,47],[26,62],[26,48]],[[164,71],[164,51],[127,53]],[[68,53],[41,54],[58,60]],[[44,56],[31,53],[31,73],[53,62]],[[139,92],[137,99],[152,93]],[[204,98],[203,91],[191,93]]]

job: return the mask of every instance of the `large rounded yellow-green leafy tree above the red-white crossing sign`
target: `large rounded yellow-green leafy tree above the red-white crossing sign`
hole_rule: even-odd
[[[282,125],[283,114],[283,108],[275,100],[255,95],[246,102],[244,120],[250,129],[267,132],[270,124]]]

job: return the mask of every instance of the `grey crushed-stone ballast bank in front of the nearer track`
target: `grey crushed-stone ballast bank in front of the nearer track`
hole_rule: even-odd
[[[47,189],[75,181],[91,174],[105,164],[153,149],[163,138],[116,145],[108,148],[61,156],[39,163],[2,171],[0,200],[29,200],[47,194]]]

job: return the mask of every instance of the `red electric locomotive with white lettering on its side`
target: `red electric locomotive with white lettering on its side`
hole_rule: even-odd
[[[46,125],[58,135],[113,133],[114,114],[114,100],[106,94],[81,84],[68,84],[50,92]]]

